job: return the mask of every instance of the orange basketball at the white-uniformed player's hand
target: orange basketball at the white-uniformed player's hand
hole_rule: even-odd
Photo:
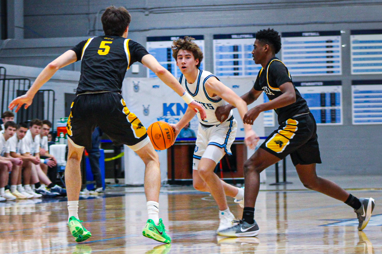
[[[156,150],[165,150],[170,147],[174,140],[174,134],[174,129],[164,121],[152,123],[147,128],[147,135],[149,135],[151,143]]]

